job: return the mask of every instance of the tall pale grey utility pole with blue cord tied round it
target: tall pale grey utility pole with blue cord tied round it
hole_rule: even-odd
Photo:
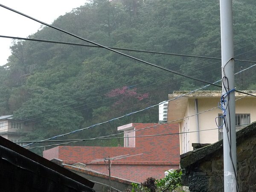
[[[236,192],[236,112],[234,89],[234,48],[232,0],[220,0],[221,11],[221,67],[224,100],[223,126],[224,192]]]

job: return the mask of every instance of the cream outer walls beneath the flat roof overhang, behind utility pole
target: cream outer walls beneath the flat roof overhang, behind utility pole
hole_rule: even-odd
[[[218,106],[219,98],[198,98],[198,113],[215,108]],[[218,117],[218,113],[222,113],[219,108],[215,108],[211,111],[207,111],[199,114],[199,130],[200,130],[200,143],[215,143],[218,141],[218,129],[202,131],[212,128],[218,128],[215,123],[215,118]],[[236,113],[250,113],[250,123],[256,121],[256,99],[244,97],[236,101]],[[195,122],[195,99],[189,98],[186,113],[184,117],[190,116],[184,119],[180,123],[181,132],[184,131],[197,131]],[[218,119],[216,119],[218,123]],[[189,125],[186,128],[186,125]],[[189,135],[180,134],[182,153],[192,151],[192,143],[198,143],[198,134],[189,133]],[[186,143],[186,144],[185,144]]]

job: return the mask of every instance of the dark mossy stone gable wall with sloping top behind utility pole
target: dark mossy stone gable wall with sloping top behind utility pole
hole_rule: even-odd
[[[237,132],[239,192],[256,192],[256,123]],[[181,155],[183,184],[191,192],[224,191],[223,141]]]

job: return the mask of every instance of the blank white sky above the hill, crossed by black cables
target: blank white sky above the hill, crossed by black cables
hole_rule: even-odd
[[[0,0],[0,4],[48,24],[84,3],[86,0]],[[40,23],[0,7],[0,35],[26,38],[40,27]],[[7,63],[11,45],[12,39],[0,38],[0,65]]]

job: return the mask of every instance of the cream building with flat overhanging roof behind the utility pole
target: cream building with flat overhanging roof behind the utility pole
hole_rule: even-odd
[[[174,91],[169,99],[186,93],[189,91]],[[238,131],[256,121],[256,97],[242,93],[235,93],[235,96]],[[184,133],[180,134],[180,154],[192,151],[192,143],[215,143],[223,138],[223,129],[218,128],[222,124],[218,116],[223,113],[218,108],[220,99],[221,91],[196,91],[169,102],[168,122],[180,119],[173,123],[179,123],[180,132]]]

